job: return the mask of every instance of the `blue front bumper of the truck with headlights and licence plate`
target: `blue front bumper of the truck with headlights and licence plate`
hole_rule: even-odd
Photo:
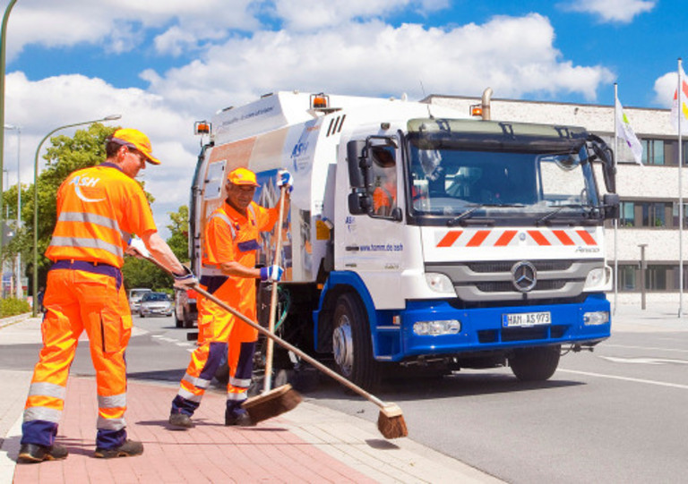
[[[386,361],[400,361],[419,355],[446,355],[460,352],[483,352],[546,344],[592,344],[610,334],[611,318],[604,324],[586,324],[587,313],[606,312],[609,301],[603,294],[591,294],[580,303],[542,306],[503,306],[457,310],[447,301],[409,301],[406,310],[377,311],[373,329],[375,356]],[[546,324],[509,327],[506,315],[548,314]],[[400,316],[401,324],[391,323]],[[513,316],[512,316],[513,318]],[[518,317],[517,317],[518,318]],[[417,335],[418,321],[458,320],[455,335]]]

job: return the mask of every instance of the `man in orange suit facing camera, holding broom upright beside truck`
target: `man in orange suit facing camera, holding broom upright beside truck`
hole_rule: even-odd
[[[277,186],[286,185],[290,189],[291,184],[288,172],[278,172]],[[201,277],[203,289],[253,320],[255,279],[273,282],[280,280],[282,274],[278,266],[255,267],[260,232],[271,230],[279,217],[277,207],[262,208],[253,201],[257,186],[255,174],[246,168],[236,168],[228,174],[227,200],[212,212],[205,228]],[[282,193],[287,193],[286,202],[288,191]],[[176,428],[193,427],[193,412],[201,404],[223,354],[227,353],[225,425],[253,425],[241,403],[251,385],[258,332],[201,294],[197,301],[198,346],[172,401],[169,423]]]

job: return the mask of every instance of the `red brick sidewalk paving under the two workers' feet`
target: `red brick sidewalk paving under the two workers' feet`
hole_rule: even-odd
[[[225,427],[225,399],[211,392],[194,415],[194,429],[171,430],[175,394],[170,386],[130,382],[127,431],[145,450],[138,457],[96,459],[95,380],[70,378],[57,435],[69,457],[17,465],[14,483],[374,482],[297,437],[280,418],[253,428]]]

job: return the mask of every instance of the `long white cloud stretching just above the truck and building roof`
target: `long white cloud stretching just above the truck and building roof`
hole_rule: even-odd
[[[563,92],[594,100],[613,74],[562,59],[554,38],[538,14],[448,30],[348,22],[316,32],[231,38],[192,64],[145,78],[151,92],[198,115],[280,89],[422,98],[421,82],[426,94],[479,95],[491,86],[499,97]]]

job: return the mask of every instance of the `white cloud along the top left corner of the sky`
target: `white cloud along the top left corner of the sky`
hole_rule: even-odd
[[[103,46],[114,52],[139,47],[146,29],[185,31],[196,41],[218,38],[228,30],[261,27],[251,0],[54,0],[18,2],[7,25],[7,58],[29,44],[69,47],[78,43]],[[163,47],[168,47],[162,42]],[[167,51],[163,52],[166,54]]]

